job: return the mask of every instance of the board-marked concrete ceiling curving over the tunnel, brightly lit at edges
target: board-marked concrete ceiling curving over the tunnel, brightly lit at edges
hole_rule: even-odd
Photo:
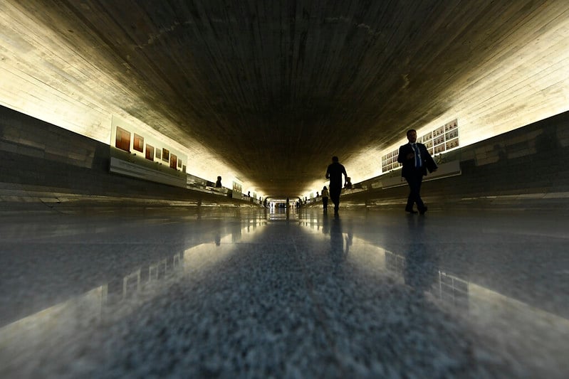
[[[566,0],[1,6],[1,67],[13,92],[26,73],[33,88],[65,95],[63,124],[87,108],[120,110],[266,196],[318,189],[333,155],[354,182],[377,175],[380,154],[409,127],[458,118],[464,144],[569,104]],[[8,92],[1,102],[26,112]],[[70,115],[73,104],[82,108]],[[97,127],[79,129],[93,137]]]

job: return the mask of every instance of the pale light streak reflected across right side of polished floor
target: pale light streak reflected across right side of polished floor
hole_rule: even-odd
[[[395,274],[414,297],[450,311],[456,322],[495,338],[494,343],[504,350],[516,351],[519,356],[531,353],[534,364],[552,368],[553,372],[564,366],[565,353],[560,347],[566,346],[564,341],[569,338],[569,320],[453,272],[451,261],[441,261],[441,252],[437,251],[440,245],[427,235],[427,218],[407,217],[405,239],[393,243],[390,238],[390,245],[400,250],[387,250],[375,238],[370,239],[367,228],[361,230],[367,240],[357,237],[358,228],[346,233],[345,220],[350,218],[316,217],[301,225],[318,239],[319,233],[329,235],[330,257],[335,264],[346,262],[362,271],[373,269],[387,276]]]

